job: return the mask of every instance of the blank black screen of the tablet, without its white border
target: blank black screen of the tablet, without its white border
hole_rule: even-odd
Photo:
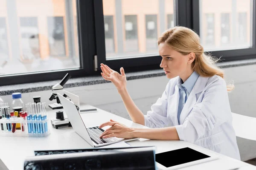
[[[189,147],[184,147],[177,150],[171,150],[168,152],[157,153],[156,162],[162,164],[165,167],[172,167],[179,164],[185,164],[187,162],[197,161],[199,159],[209,158],[210,156],[204,153],[193,150]]]

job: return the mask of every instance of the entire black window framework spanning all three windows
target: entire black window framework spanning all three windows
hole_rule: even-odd
[[[173,3],[175,26],[192,28],[200,36],[199,0],[173,0]],[[159,54],[106,59],[102,0],[76,0],[76,7],[80,68],[1,75],[0,86],[62,79],[67,73],[72,77],[100,75],[101,63],[109,65],[116,71],[124,67],[125,72],[160,69]],[[256,58],[256,0],[253,0],[252,9],[252,48],[208,51],[212,56],[221,57],[224,62]]]

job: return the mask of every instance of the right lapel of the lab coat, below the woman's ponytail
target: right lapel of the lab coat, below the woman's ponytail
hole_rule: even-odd
[[[195,85],[194,85],[191,93],[189,94],[189,97],[180,113],[180,125],[183,124],[187,115],[190,113],[190,111],[194,107],[194,105],[196,103],[196,94],[198,94],[204,90],[208,79],[209,79],[209,77],[201,77],[201,76],[198,77],[198,79],[195,82]]]

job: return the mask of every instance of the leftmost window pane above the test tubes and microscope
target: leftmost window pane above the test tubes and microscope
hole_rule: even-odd
[[[1,0],[0,76],[80,68],[74,8],[76,0]]]

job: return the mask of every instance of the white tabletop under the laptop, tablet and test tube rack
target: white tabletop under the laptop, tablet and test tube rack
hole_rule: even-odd
[[[92,106],[84,105],[80,108],[86,109],[92,108]],[[48,118],[55,117],[55,111],[57,110],[48,111]],[[81,114],[81,117],[87,126],[100,125],[110,119],[113,119],[129,127],[148,128],[100,109],[95,113],[83,113]],[[27,156],[34,156],[34,150],[92,148],[90,144],[88,144],[73,130],[72,127],[55,129],[49,123],[48,127],[51,133],[46,137],[0,136],[0,159],[10,170],[21,170],[23,169],[23,162],[25,158]],[[237,167],[256,169],[253,165],[215,153],[189,142],[139,139],[128,143],[132,146],[156,146],[156,153],[179,149],[182,147],[191,147],[192,149],[206,154],[215,154],[220,157],[218,160],[186,167],[182,170],[232,170]]]

